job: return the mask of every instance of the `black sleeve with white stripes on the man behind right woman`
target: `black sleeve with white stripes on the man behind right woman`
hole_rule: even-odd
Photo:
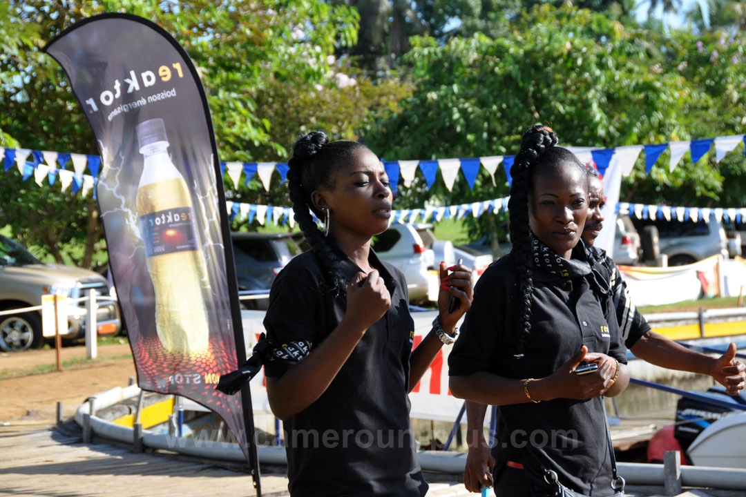
[[[642,335],[651,331],[651,326],[633,303],[630,291],[627,289],[627,283],[621,277],[621,272],[616,267],[616,263],[606,254],[606,250],[601,250],[595,246],[589,247],[588,250],[590,255],[598,262],[598,265],[604,268],[609,276],[619,332],[621,332],[621,337],[624,338],[624,345],[627,346],[627,349],[631,349]]]

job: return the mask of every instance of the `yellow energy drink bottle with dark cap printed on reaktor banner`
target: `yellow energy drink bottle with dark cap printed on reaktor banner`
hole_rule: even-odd
[[[163,119],[136,127],[145,156],[137,187],[145,258],[155,291],[155,322],[161,344],[169,352],[195,355],[209,347],[207,311],[202,287],[207,267],[184,176],[171,162]]]

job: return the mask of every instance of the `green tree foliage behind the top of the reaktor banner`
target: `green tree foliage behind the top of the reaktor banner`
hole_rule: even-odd
[[[186,49],[201,77],[222,160],[285,160],[304,127],[353,138],[372,113],[395,108],[407,86],[374,84],[357,75],[337,50],[357,42],[359,16],[347,5],[316,0],[10,0],[0,4],[0,130],[13,148],[98,153],[92,130],[63,71],[40,48],[74,22],[103,12],[151,19]],[[12,137],[12,138],[11,138]],[[274,182],[279,177],[275,175]],[[232,187],[232,185],[231,185]],[[253,189],[253,190],[252,190]],[[256,191],[260,189],[260,191]],[[284,205],[283,189],[257,180],[234,200]],[[95,201],[0,173],[0,227],[40,246],[57,261],[93,264],[101,223]],[[84,245],[72,250],[70,245]],[[77,255],[73,255],[77,253]]]

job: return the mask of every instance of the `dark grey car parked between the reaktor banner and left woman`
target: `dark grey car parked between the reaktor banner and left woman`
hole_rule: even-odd
[[[304,252],[296,233],[233,232],[231,240],[238,289],[246,294],[269,294],[275,276],[290,259]],[[241,306],[266,310],[269,299],[241,300]]]

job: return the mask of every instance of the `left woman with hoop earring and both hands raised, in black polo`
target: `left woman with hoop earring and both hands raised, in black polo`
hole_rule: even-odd
[[[265,373],[269,405],[284,421],[290,493],[424,496],[407,393],[454,341],[471,305],[471,270],[441,262],[439,316],[412,350],[407,282],[371,249],[391,215],[380,159],[312,132],[295,142],[288,165],[295,221],[313,250],[275,279],[264,326],[281,344]],[[458,305],[449,312],[451,296]]]

